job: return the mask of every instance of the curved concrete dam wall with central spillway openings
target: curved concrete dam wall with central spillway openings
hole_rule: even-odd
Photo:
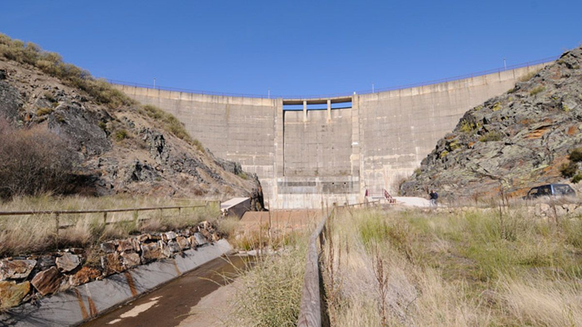
[[[271,209],[354,203],[399,180],[463,113],[547,63],[424,86],[321,98],[254,98],[115,84],[172,113],[215,155],[261,181]]]

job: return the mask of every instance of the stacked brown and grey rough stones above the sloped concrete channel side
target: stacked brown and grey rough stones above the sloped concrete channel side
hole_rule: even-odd
[[[148,262],[173,258],[221,239],[211,223],[164,233],[147,233],[101,243],[96,252],[69,248],[51,254],[0,260],[0,310],[122,273]]]

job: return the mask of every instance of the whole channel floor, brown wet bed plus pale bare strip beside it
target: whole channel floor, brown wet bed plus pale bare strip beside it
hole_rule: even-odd
[[[235,266],[244,267],[244,260],[238,256],[212,260],[82,326],[220,326],[217,314],[226,311],[225,297],[233,289],[221,287],[228,283],[222,276],[233,276]]]

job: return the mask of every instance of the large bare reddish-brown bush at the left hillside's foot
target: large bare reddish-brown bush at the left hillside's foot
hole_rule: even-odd
[[[0,198],[64,190],[73,158],[61,137],[40,126],[16,129],[0,118]]]

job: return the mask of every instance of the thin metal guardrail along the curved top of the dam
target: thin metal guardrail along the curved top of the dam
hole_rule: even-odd
[[[385,91],[394,91],[394,90],[402,90],[404,88],[411,88],[411,87],[420,87],[420,86],[427,86],[431,84],[439,84],[439,83],[446,83],[449,81],[455,80],[462,80],[462,79],[469,79],[471,77],[478,77],[487,74],[493,73],[501,73],[505,72],[506,70],[512,70],[517,68],[529,67],[539,65],[541,63],[552,62],[558,59],[560,56],[551,56],[548,58],[538,59],[534,61],[516,63],[515,65],[509,65],[506,67],[499,67],[489,70],[482,70],[481,72],[474,72],[468,74],[462,74],[452,77],[445,77],[444,79],[438,80],[429,80],[429,81],[422,81],[418,83],[411,83],[411,84],[402,84],[398,86],[391,86],[385,88],[375,88],[374,90],[360,90],[360,91],[353,91],[347,93],[332,93],[332,94],[311,94],[311,95],[270,95],[270,94],[245,94],[245,93],[226,93],[226,92],[215,92],[215,91],[203,91],[203,90],[193,90],[190,88],[178,88],[178,87],[166,87],[166,86],[158,86],[152,84],[144,84],[144,83],[133,83],[129,81],[122,81],[122,80],[113,80],[113,79],[106,79],[109,83],[112,84],[119,84],[123,86],[134,86],[134,87],[143,87],[143,88],[152,88],[154,90],[162,90],[162,91],[175,91],[175,92],[183,92],[183,93],[195,93],[195,94],[206,94],[206,95],[220,95],[223,97],[247,97],[247,98],[263,98],[263,99],[275,99],[275,98],[284,98],[284,99],[309,99],[309,98],[335,98],[335,97],[349,97],[353,94],[372,94],[372,93],[379,93]]]

